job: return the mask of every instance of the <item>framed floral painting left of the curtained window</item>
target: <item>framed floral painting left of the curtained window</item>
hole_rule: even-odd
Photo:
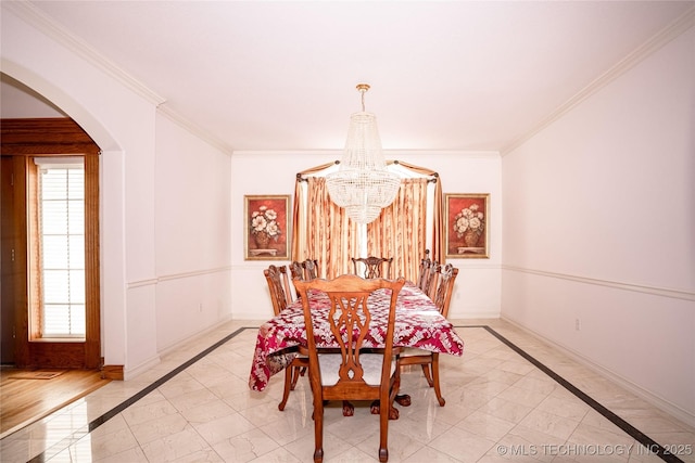
[[[244,196],[244,259],[289,260],[290,195]]]

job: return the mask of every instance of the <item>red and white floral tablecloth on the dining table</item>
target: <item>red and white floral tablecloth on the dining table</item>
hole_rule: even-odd
[[[371,324],[364,347],[383,347],[390,298],[388,290],[379,290],[369,297]],[[338,347],[331,344],[333,337],[327,322],[328,297],[320,292],[311,292],[309,304],[316,316],[316,346]],[[289,364],[296,355],[291,350],[299,345],[306,345],[306,330],[302,301],[295,300],[258,329],[249,387],[263,390],[270,376]],[[464,342],[454,326],[437,310],[434,303],[410,282],[406,282],[399,293],[393,345],[453,356],[464,353]]]

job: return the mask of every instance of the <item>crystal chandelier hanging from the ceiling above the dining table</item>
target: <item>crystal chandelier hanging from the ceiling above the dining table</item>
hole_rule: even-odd
[[[343,207],[352,220],[369,223],[399,192],[401,178],[387,170],[377,129],[377,117],[365,112],[367,83],[358,83],[362,112],[350,116],[345,150],[336,172],[326,176],[330,198]]]

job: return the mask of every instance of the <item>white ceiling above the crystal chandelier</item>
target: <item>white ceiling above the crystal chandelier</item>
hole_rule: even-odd
[[[693,1],[33,1],[229,151],[504,151]]]

